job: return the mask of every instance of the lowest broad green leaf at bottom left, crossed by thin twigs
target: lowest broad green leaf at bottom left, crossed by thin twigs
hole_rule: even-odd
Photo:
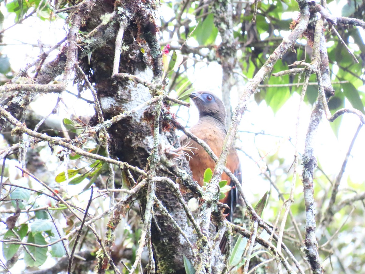
[[[47,244],[42,233],[29,233],[27,243],[42,245]],[[28,249],[35,258],[34,261],[31,256],[27,252],[25,252],[24,262],[28,267],[41,266],[47,260],[47,247],[28,246]]]

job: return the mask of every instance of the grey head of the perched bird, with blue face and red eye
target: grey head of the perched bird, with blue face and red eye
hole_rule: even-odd
[[[189,95],[199,110],[199,118],[212,117],[226,127],[226,109],[222,100],[209,91],[192,92]]]

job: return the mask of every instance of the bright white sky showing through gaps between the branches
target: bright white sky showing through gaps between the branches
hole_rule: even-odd
[[[341,1],[336,6],[335,1],[328,4],[329,7],[333,7],[333,11],[341,11],[341,7],[346,1]],[[12,15],[7,15],[4,5],[1,5],[1,11],[6,18],[4,21],[4,28],[13,24]],[[335,14],[337,15],[337,14]],[[289,16],[289,15],[285,15]],[[27,19],[27,24],[21,24],[13,27],[11,30],[6,31],[4,35],[4,43],[33,43],[37,44],[38,39],[45,44],[54,45],[65,36],[64,22],[43,22],[40,19]],[[51,35],[50,35],[51,33]],[[31,62],[35,56],[39,54],[38,47],[32,47],[30,45],[12,45],[11,47],[0,47],[0,51],[3,54],[7,54],[11,59],[12,68],[16,71],[22,68],[25,62]],[[220,65],[217,63],[211,63],[207,65],[204,62],[199,63],[196,66],[195,71],[188,73],[189,79],[194,83],[196,90],[209,90],[216,94],[220,94],[220,88],[222,85],[222,71]],[[337,91],[338,92],[338,91]],[[57,95],[41,95],[39,100],[32,104],[32,108],[39,111],[40,114],[46,115],[54,107],[55,99]],[[93,112],[92,106],[87,103],[74,100],[74,97],[66,93],[62,94],[62,98],[70,107],[70,109],[76,115],[91,114]],[[54,102],[54,103],[53,103]],[[237,91],[233,91],[232,94],[233,108],[235,103],[238,102]],[[276,136],[282,136],[283,138],[273,138],[269,136],[258,136],[256,138],[256,145],[260,149],[263,155],[268,153],[272,155],[279,152],[279,156],[286,159],[289,163],[293,160],[293,145],[289,142],[289,137],[292,142],[295,140],[295,123],[297,117],[299,95],[296,92],[292,92],[291,98],[284,104],[284,106],[274,115],[270,107],[267,107],[265,102],[257,105],[253,99],[249,103],[248,109],[243,116],[239,130],[246,130],[252,132],[265,131],[266,134],[272,134]],[[350,107],[347,102],[346,107]],[[66,108],[60,110],[59,115],[62,118],[66,115]],[[301,120],[299,128],[300,144],[299,152],[304,151],[304,137],[307,130],[309,117],[311,113],[311,106],[303,105],[301,111]],[[186,112],[182,107],[179,111],[179,115],[187,117]],[[191,121],[190,125],[197,120],[197,111],[195,107],[191,107]],[[195,119],[195,121],[194,121]],[[339,129],[339,138],[335,137],[332,129],[330,128],[329,122],[325,119],[322,120],[319,126],[316,144],[315,144],[315,155],[318,157],[319,163],[322,165],[323,170],[326,174],[330,175],[330,179],[334,179],[338,171],[341,168],[342,161],[347,152],[349,143],[353,137],[354,132],[358,126],[358,118],[354,115],[345,114],[341,128]],[[255,161],[260,162],[261,160],[257,156],[257,151],[253,142],[253,134],[242,133],[240,139],[243,143],[242,149],[249,155],[254,157]],[[351,180],[355,183],[364,183],[363,166],[365,163],[365,130],[361,130],[358,135],[357,142],[351,153],[351,157],[346,167],[345,175],[342,179],[341,187],[347,186],[347,176],[350,176]],[[237,142],[240,145],[239,142]],[[261,197],[266,190],[269,189],[269,182],[262,179],[260,176],[260,169],[249,160],[243,153],[240,153],[244,189],[247,191],[247,196],[252,203],[257,202],[257,197]],[[263,161],[266,159],[264,158]],[[261,161],[262,162],[262,161]],[[300,166],[299,166],[300,167]],[[292,170],[290,171],[292,173]],[[280,174],[278,174],[280,175]],[[289,182],[288,182],[289,183]]]

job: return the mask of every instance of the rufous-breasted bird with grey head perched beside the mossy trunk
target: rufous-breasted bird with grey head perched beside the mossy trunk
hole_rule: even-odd
[[[222,100],[215,94],[208,91],[192,92],[189,97],[193,100],[199,111],[199,120],[189,131],[199,139],[203,140],[212,149],[216,156],[222,153],[224,138],[227,135],[226,109]],[[185,158],[189,161],[189,167],[192,171],[192,177],[200,186],[203,186],[204,172],[207,168],[214,171],[215,161],[208,155],[203,147],[195,141],[189,139],[186,135],[180,137],[180,145],[188,147]],[[242,172],[239,157],[236,149],[232,146],[230,154],[227,157],[226,167],[236,176],[238,182],[242,183]],[[230,185],[230,177],[223,172],[222,180],[227,180]],[[226,203],[229,210],[225,210],[227,220],[232,221],[233,212],[237,204],[237,188],[233,187],[226,194],[226,197],[219,202]],[[220,249],[223,252],[227,239],[223,237],[220,243]]]

